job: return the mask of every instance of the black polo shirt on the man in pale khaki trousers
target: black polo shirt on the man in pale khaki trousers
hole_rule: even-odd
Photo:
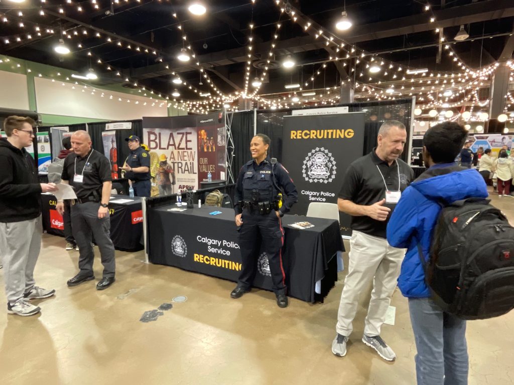
[[[348,166],[343,186],[341,191],[339,191],[339,198],[352,201],[358,205],[370,206],[386,198],[386,185],[390,191],[398,191],[398,187],[400,191],[403,191],[414,180],[414,171],[407,163],[398,159],[398,163],[393,162],[389,166],[386,161],[381,160],[376,155],[375,150],[376,148],[368,155],[357,159]],[[380,172],[382,175],[380,175]],[[388,203],[384,204],[384,206],[391,208],[392,213],[396,204]],[[386,238],[389,218],[391,218],[391,214],[383,222],[368,216],[352,216],[351,227],[353,230],[358,230],[368,235]]]

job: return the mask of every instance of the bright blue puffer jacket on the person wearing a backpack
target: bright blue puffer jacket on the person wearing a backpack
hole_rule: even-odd
[[[398,287],[404,296],[430,297],[417,244],[421,244],[424,258],[428,260],[441,210],[439,203],[487,196],[487,186],[479,172],[455,164],[430,167],[403,191],[388,223],[387,239],[394,247],[407,248],[398,277]]]

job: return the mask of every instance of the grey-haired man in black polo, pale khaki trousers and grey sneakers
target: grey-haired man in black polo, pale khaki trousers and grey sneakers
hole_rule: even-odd
[[[359,296],[373,281],[362,342],[385,360],[396,358],[380,337],[380,329],[405,256],[405,249],[388,244],[386,228],[401,191],[414,179],[414,171],[398,159],[406,141],[405,125],[396,120],[387,121],[378,131],[377,147],[346,170],[337,204],[340,211],[352,216],[352,239],[348,275],[339,304],[337,335],[332,342],[332,353],[336,356],[346,354]]]

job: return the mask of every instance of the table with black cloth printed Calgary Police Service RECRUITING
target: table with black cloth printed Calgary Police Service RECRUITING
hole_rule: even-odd
[[[195,206],[181,212],[169,211],[173,207],[176,206],[149,207],[146,211],[150,261],[236,282],[241,272],[241,254],[234,210]],[[209,214],[216,210],[222,214]],[[300,221],[315,226],[306,229],[289,226]],[[282,225],[285,231],[282,260],[288,294],[308,302],[323,301],[337,280],[336,255],[344,247],[338,221],[286,215]],[[253,284],[271,290],[271,274],[263,254],[258,254],[258,273]],[[321,281],[319,294],[315,290],[318,281]]]

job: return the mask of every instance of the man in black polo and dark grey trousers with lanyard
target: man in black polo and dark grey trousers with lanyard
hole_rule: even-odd
[[[91,148],[91,138],[86,131],[75,131],[71,136],[70,153],[65,161],[62,182],[74,187],[77,199],[71,205],[71,228],[79,246],[80,272],[68,280],[68,286],[95,279],[93,260],[95,252],[91,245],[91,233],[95,238],[103,264],[103,278],[97,284],[104,290],[114,282],[116,262],[111,240],[111,219],[107,205],[111,197],[111,163],[100,152]],[[64,204],[57,203],[62,215]]]

